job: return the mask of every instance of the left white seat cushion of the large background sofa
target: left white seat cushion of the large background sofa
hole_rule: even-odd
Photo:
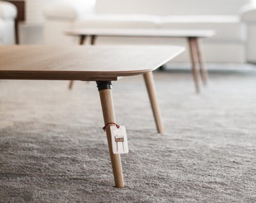
[[[109,29],[156,29],[160,17],[136,14],[97,14],[85,17],[75,23],[75,28]]]

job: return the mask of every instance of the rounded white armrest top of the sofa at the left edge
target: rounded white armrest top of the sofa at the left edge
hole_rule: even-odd
[[[10,2],[0,1],[0,18],[14,20],[17,17],[17,8]]]

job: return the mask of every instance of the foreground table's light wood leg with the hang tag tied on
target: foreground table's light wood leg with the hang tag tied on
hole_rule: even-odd
[[[99,89],[99,96],[102,104],[102,114],[104,117],[105,125],[107,123],[115,123],[114,105],[113,105],[112,93],[111,93],[111,81],[97,81],[96,83]],[[114,154],[112,150],[111,132],[110,132],[111,125],[113,124],[106,126],[106,134],[107,134],[109,154],[111,157],[111,164],[112,164],[112,169],[114,174],[115,187],[120,188],[124,186],[123,171],[122,171],[120,154]]]

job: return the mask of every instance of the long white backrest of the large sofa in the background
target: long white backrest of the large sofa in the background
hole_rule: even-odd
[[[250,0],[96,0],[97,14],[234,15]]]

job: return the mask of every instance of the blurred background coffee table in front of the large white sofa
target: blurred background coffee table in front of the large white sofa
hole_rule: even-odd
[[[209,29],[73,29],[65,32],[66,35],[78,36],[80,44],[84,44],[87,37],[90,37],[90,44],[96,43],[98,36],[104,37],[149,37],[149,38],[184,38],[187,39],[190,48],[190,60],[196,91],[200,92],[200,74],[203,83],[206,85],[208,73],[203,59],[200,38],[212,37],[215,32]],[[69,84],[72,88],[72,82]]]

